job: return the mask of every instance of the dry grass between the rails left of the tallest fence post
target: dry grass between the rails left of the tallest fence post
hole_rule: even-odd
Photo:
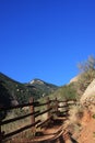
[[[20,110],[13,110],[12,112],[8,113],[8,116],[4,120],[13,119],[15,117],[21,117],[21,116],[24,116],[29,111],[21,110],[21,112],[20,112]],[[10,132],[16,131],[16,130],[27,125],[27,124],[31,124],[31,117],[27,117],[25,119],[17,120],[17,121],[14,121],[14,122],[11,122],[11,123],[8,123],[8,124],[3,124],[3,125],[1,125],[1,131],[4,131],[5,134],[8,134]],[[29,138],[33,136],[33,133],[32,133],[32,130],[31,131],[26,130],[22,133],[19,133],[16,136],[17,136],[17,139],[23,139],[23,138],[29,139]],[[13,138],[15,138],[15,135]],[[12,142],[11,140],[7,141],[7,143],[11,143],[11,142]]]

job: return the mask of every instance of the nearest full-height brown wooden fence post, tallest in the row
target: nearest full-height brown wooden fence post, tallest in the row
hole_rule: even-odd
[[[29,103],[33,103],[33,102],[34,102],[34,98],[32,97],[32,98],[29,99]],[[29,109],[31,109],[31,113],[33,113],[33,112],[35,111],[33,105],[29,107]],[[35,116],[34,116],[34,114],[31,116],[31,123],[32,123],[32,124],[35,123]],[[33,132],[33,135],[35,135],[35,127],[32,127],[32,132]]]

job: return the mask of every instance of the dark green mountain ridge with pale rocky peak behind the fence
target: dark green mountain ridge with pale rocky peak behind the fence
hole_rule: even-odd
[[[31,97],[39,99],[58,89],[58,86],[48,84],[40,79],[34,79],[26,84],[15,81],[7,75],[0,73],[0,105],[19,105],[28,102]],[[1,100],[5,99],[5,100]]]

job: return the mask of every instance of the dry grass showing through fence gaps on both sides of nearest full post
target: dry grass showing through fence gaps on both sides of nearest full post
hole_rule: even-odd
[[[44,101],[43,101],[43,102],[44,102]],[[46,107],[45,107],[45,106],[38,107],[38,108],[36,108],[36,110],[37,110],[37,111],[38,111],[38,110],[44,111],[44,110],[46,110]],[[22,116],[27,114],[27,113],[29,113],[29,112],[31,112],[29,109],[28,109],[28,110],[14,109],[14,110],[8,112],[8,116],[7,116],[7,118],[4,119],[4,121],[5,121],[5,120],[9,120],[9,119],[14,119],[14,118],[16,118],[16,117],[22,117]],[[45,113],[45,114],[41,114],[41,117],[40,117],[40,116],[37,117],[36,120],[38,120],[38,119],[45,120],[46,118],[47,118],[47,114]],[[17,121],[14,121],[14,122],[12,122],[12,123],[8,123],[8,124],[4,124],[4,125],[1,125],[1,131],[4,131],[5,134],[8,134],[8,133],[10,133],[10,132],[16,131],[16,130],[19,130],[19,129],[21,129],[21,128],[23,128],[23,127],[25,127],[25,125],[28,125],[28,124],[31,124],[31,123],[32,123],[32,122],[31,122],[31,117],[27,117],[27,118],[25,118],[25,119],[17,120]],[[40,129],[38,128],[37,131],[40,131]],[[33,128],[31,128],[31,129],[28,129],[28,130],[23,131],[22,133],[19,133],[19,134],[16,134],[16,135],[13,135],[13,138],[10,139],[9,141],[7,141],[7,143],[12,143],[13,140],[16,140],[16,139],[17,139],[17,141],[20,141],[20,140],[22,140],[22,139],[29,140],[29,139],[32,139],[34,135],[35,135],[35,130],[33,130]]]

